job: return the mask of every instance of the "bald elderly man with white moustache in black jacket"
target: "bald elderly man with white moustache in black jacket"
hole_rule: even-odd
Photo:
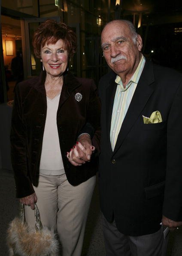
[[[182,74],[147,61],[126,20],[103,28],[101,46],[112,69],[99,82],[106,255],[161,256],[160,223],[182,225]],[[86,150],[75,147],[76,165],[91,155],[88,135],[79,139]]]

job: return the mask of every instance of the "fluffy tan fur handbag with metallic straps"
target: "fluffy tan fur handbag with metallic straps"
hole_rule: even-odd
[[[57,256],[58,240],[53,231],[42,226],[39,210],[35,204],[35,228],[25,222],[24,204],[20,203],[19,219],[9,224],[7,244],[9,256]]]

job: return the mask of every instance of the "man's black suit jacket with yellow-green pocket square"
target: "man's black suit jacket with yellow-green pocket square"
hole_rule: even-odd
[[[123,234],[150,234],[162,214],[182,220],[182,74],[146,61],[112,152],[115,77],[110,72],[99,83],[101,210]],[[144,124],[156,110],[163,121]]]

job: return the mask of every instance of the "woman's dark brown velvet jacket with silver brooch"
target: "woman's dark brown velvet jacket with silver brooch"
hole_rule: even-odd
[[[16,195],[19,198],[34,193],[32,184],[37,186],[39,181],[47,110],[45,76],[46,73],[42,72],[39,77],[21,82],[15,91],[10,139]],[[82,94],[80,101],[76,100],[77,93]],[[57,126],[65,173],[72,185],[86,181],[97,172],[97,153],[90,162],[82,166],[71,165],[66,156],[86,122],[94,128],[92,140],[98,152],[100,99],[97,96],[97,88],[92,79],[76,78],[68,72],[64,75]]]

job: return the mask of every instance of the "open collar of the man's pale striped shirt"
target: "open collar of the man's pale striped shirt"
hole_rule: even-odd
[[[120,76],[118,76],[118,75],[116,76],[115,82],[116,82],[116,84],[119,84],[119,85],[120,85],[121,91],[126,91],[127,88],[132,84],[132,82],[135,83],[135,84],[138,84],[138,81],[139,81],[140,75],[141,75],[141,73],[142,73],[142,71],[143,71],[145,62],[146,62],[146,59],[145,59],[145,57],[142,55],[142,58],[140,59],[140,62],[139,62],[139,64],[138,64],[138,66],[137,66],[137,69],[135,70],[135,72],[134,72],[133,76],[131,77],[130,81],[128,81],[128,83],[127,83],[127,85],[126,85],[125,88],[123,87],[123,83],[122,83],[122,81],[121,81]]]

